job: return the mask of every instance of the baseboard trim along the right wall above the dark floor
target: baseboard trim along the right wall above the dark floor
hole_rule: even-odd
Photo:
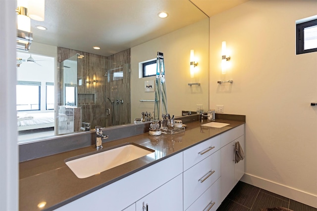
[[[264,190],[276,193],[278,195],[287,197],[294,201],[303,203],[305,205],[317,208],[317,195],[307,193],[295,188],[282,185],[252,174],[245,173],[241,181],[262,188]]]

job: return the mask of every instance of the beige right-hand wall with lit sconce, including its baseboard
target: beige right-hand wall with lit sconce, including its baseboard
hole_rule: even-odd
[[[295,21],[316,12],[316,0],[250,0],[212,16],[210,107],[246,115],[244,181],[317,208],[317,52],[295,53]]]

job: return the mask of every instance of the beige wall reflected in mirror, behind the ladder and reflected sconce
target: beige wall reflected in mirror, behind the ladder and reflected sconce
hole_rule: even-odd
[[[198,58],[198,72],[190,78],[190,50]],[[164,54],[167,111],[181,116],[182,110],[196,111],[196,104],[209,109],[209,19],[184,27],[158,39],[131,48],[131,121],[141,118],[141,112],[153,112],[154,102],[140,102],[140,99],[154,100],[155,92],[144,91],[144,81],[155,77],[139,79],[139,62],[156,59],[157,52]],[[201,83],[201,86],[189,86]]]

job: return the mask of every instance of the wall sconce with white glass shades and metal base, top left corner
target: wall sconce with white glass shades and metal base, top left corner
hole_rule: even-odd
[[[16,48],[28,51],[33,41],[31,19],[44,21],[45,0],[18,0]]]

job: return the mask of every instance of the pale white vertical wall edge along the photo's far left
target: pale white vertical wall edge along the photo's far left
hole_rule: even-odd
[[[16,211],[18,205],[19,169],[16,125],[16,1],[0,2],[0,210]],[[13,92],[13,94],[12,94]]]

